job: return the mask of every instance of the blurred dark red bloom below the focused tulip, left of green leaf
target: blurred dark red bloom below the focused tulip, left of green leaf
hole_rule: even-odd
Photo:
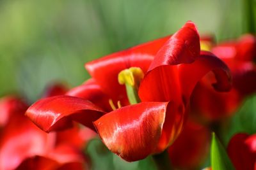
[[[210,142],[209,129],[188,121],[180,136],[168,148],[172,166],[177,169],[198,169],[207,157]]]

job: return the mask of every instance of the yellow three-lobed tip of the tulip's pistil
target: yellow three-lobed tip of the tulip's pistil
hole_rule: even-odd
[[[144,73],[140,67],[130,67],[118,74],[118,83],[120,83],[120,85],[126,84],[138,88],[143,77]]]

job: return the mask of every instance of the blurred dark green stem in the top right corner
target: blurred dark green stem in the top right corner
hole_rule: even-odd
[[[255,33],[255,18],[253,13],[253,0],[243,0],[244,1],[244,13],[246,20],[246,32]]]

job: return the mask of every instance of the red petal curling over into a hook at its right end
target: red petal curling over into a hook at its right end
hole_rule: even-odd
[[[213,83],[216,90],[231,89],[230,70],[224,62],[210,52],[201,52],[191,64],[159,66],[149,71],[140,84],[140,99],[177,101],[186,104],[196,83],[210,71],[214,72],[217,80]]]

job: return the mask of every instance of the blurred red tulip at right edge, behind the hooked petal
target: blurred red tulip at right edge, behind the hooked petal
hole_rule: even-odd
[[[212,74],[196,85],[191,106],[196,115],[207,121],[220,120],[232,115],[244,97],[256,92],[256,38],[242,36],[238,41],[214,46],[212,52],[231,69],[233,88],[230,92],[220,93],[211,87]]]

